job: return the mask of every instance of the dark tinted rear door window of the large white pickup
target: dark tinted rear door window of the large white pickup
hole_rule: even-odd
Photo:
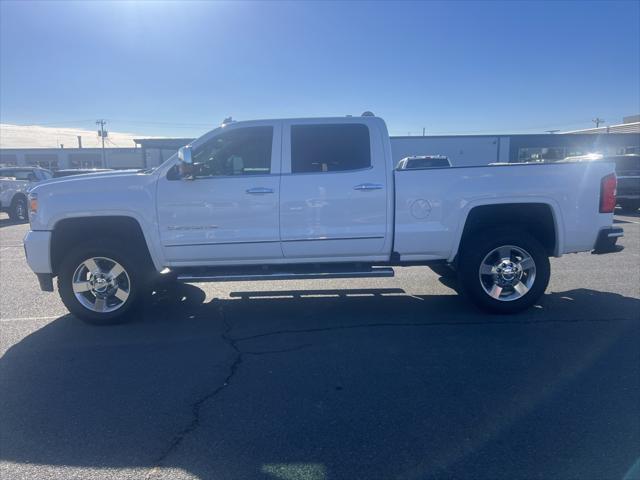
[[[344,172],[371,166],[369,128],[362,124],[293,125],[291,172]]]

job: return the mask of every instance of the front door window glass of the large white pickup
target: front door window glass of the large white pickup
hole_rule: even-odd
[[[273,127],[229,130],[193,151],[195,176],[266,175],[271,173]]]

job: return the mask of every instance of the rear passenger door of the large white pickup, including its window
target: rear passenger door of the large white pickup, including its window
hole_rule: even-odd
[[[390,250],[384,148],[375,123],[283,123],[280,238],[292,259],[386,259]]]

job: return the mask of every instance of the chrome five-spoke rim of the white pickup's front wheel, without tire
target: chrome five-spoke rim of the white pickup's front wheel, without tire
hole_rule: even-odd
[[[113,312],[125,304],[131,292],[131,280],[124,267],[106,257],[83,261],[73,274],[73,294],[87,309]]]

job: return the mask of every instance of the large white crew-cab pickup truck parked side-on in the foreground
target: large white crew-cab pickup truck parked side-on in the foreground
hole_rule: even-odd
[[[447,265],[480,307],[517,312],[549,257],[615,251],[606,162],[395,170],[374,116],[223,125],[153,171],[68,177],[30,194],[27,261],[94,323],[161,273],[183,282],[392,276]]]

